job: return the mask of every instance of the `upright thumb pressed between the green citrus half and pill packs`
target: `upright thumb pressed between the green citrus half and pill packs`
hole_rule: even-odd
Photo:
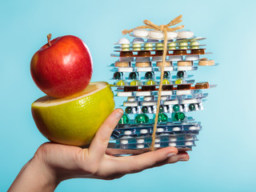
[[[91,142],[89,147],[89,155],[95,161],[100,160],[105,154],[110,136],[115,126],[117,126],[119,119],[122,117],[122,114],[123,111],[121,109],[114,110],[98,129],[94,140]]]

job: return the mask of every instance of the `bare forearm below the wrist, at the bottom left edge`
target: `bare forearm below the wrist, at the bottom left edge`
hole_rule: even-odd
[[[54,191],[58,186],[58,181],[43,162],[32,158],[15,178],[8,191]]]

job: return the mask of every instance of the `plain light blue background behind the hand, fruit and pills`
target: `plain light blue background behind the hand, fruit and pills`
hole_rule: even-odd
[[[182,24],[207,39],[221,65],[204,68],[197,81],[210,90],[198,146],[189,162],[145,170],[114,181],[72,179],[56,191],[255,191],[255,1],[2,1],[0,4],[0,190],[5,191],[46,138],[38,132],[30,104],[44,94],[30,77],[30,59],[46,34],[73,34],[90,47],[92,81],[108,81],[113,43],[121,31],[144,19]]]

